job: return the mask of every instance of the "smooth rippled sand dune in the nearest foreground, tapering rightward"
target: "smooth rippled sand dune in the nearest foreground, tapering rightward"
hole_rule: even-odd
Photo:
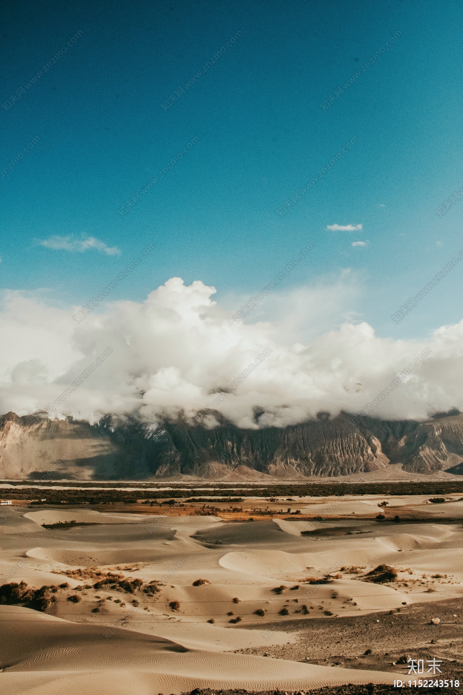
[[[179,693],[198,686],[294,690],[328,683],[394,680],[391,673],[188,650],[174,641],[117,628],[105,636],[105,629],[98,626],[49,617],[29,619],[28,613],[25,608],[0,609],[5,645],[2,660],[8,664],[0,682],[6,693],[54,695],[81,689],[87,694],[96,692],[96,687],[99,693],[108,695],[164,690]],[[5,630],[10,635],[8,640],[4,640]]]

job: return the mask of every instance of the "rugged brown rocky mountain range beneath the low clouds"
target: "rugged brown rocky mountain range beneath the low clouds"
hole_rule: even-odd
[[[339,476],[392,463],[414,473],[463,474],[463,416],[426,423],[346,414],[292,427],[149,426],[106,416],[96,425],[42,416],[0,418],[0,479],[267,479]]]

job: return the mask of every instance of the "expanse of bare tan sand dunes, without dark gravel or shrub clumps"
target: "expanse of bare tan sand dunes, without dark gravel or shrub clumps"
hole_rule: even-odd
[[[335,621],[335,616],[396,611],[404,604],[463,596],[458,583],[463,582],[463,529],[456,522],[434,522],[436,514],[447,516],[447,509],[459,503],[426,505],[415,498],[416,508],[430,512],[432,523],[400,525],[375,521],[377,499],[362,502],[362,509],[369,509],[369,518],[362,520],[344,515],[357,500],[307,506],[327,509],[336,501],[333,516],[344,519],[319,523],[225,523],[211,516],[161,518],[72,508],[40,509],[24,517],[24,510],[12,509],[8,532],[1,537],[0,572],[12,573],[15,581],[24,579],[30,587],[62,582],[70,587],[53,592],[55,600],[45,614],[0,607],[2,692],[152,695],[194,687],[284,691],[392,682],[391,673],[232,652],[293,644],[301,634],[298,625],[312,626],[314,619]],[[412,507],[410,500],[401,508],[407,506]],[[99,525],[67,530],[41,525],[71,519],[98,520]],[[305,530],[314,532],[301,536]],[[373,584],[347,571],[329,584],[303,582],[337,574],[342,566],[362,567],[366,573],[381,563],[396,568],[397,582]],[[117,586],[96,590],[92,579],[83,586],[85,580],[65,575],[88,566],[119,567],[123,575],[146,583],[157,580],[161,591],[147,596]],[[436,573],[447,576],[435,578]],[[199,578],[209,583],[194,587]],[[287,588],[279,594],[274,589],[280,584]],[[82,600],[69,602],[78,585]],[[138,606],[131,606],[133,599]],[[178,606],[172,608],[175,601]],[[230,624],[236,617],[241,621]],[[207,622],[211,619],[214,624]]]

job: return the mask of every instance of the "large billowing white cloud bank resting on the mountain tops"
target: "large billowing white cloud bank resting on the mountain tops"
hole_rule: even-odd
[[[426,341],[379,338],[366,322],[344,322],[306,343],[280,338],[278,322],[237,324],[213,287],[180,278],[144,302],[107,304],[77,325],[74,309],[7,293],[0,311],[0,412],[26,414],[56,400],[107,347],[112,353],[58,416],[106,413],[145,422],[193,417],[271,347],[218,410],[239,427],[288,425],[328,410],[360,411],[429,347],[431,352],[375,409],[378,417],[426,418],[463,410],[463,320]],[[303,307],[301,306],[301,310]],[[255,408],[262,412],[255,424]]]

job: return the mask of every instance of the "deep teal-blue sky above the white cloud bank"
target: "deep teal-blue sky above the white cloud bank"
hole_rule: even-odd
[[[155,253],[112,300],[142,301],[179,276],[214,285],[214,298],[234,309],[233,297],[260,291],[313,241],[275,292],[335,286],[351,269],[356,291],[346,306],[339,289],[332,328],[347,312],[379,336],[419,339],[460,321],[463,263],[398,325],[391,314],[463,247],[463,199],[435,213],[463,186],[462,15],[456,0],[11,3],[1,21],[1,104],[82,35],[0,110],[1,169],[40,138],[0,179],[1,287],[83,304],[153,241]],[[126,199],[192,138],[121,218]],[[276,208],[352,138],[280,218]],[[71,248],[88,238],[101,245],[40,245],[55,236]]]

